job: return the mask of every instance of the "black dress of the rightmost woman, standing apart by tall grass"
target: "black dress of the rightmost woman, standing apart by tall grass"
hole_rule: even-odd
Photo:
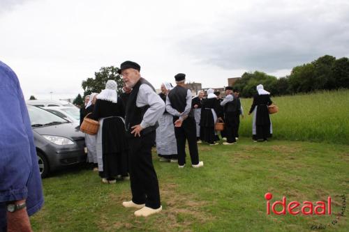
[[[255,115],[253,116],[253,140],[267,140],[267,138],[272,137],[271,121],[268,109],[268,106],[272,105],[272,103],[273,102],[268,94],[256,94],[253,96],[253,103],[250,109],[250,114],[256,110]]]

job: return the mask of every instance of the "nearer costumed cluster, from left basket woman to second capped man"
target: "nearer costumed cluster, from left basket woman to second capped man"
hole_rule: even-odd
[[[99,122],[97,134],[86,134],[85,141],[88,161],[102,182],[131,180],[132,199],[123,206],[138,208],[135,215],[147,217],[162,209],[151,157],[154,144],[159,156],[184,168],[188,140],[192,167],[204,165],[199,160],[191,91],[185,88],[185,75],[179,73],[174,77],[177,86],[165,83],[163,93],[156,94],[133,61],[121,63],[119,74],[124,93],[118,95],[117,83],[108,80],[101,93],[85,98],[80,123],[85,117]]]

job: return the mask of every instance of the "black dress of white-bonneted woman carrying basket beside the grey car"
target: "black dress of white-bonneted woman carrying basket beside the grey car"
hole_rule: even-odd
[[[115,178],[118,175],[128,176],[128,144],[124,102],[118,98],[117,103],[107,100],[96,101],[93,118],[104,118],[102,126],[103,171],[101,178]]]

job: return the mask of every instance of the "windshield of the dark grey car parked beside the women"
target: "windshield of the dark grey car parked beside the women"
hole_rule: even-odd
[[[45,125],[47,123],[52,122],[68,123],[66,119],[52,114],[49,111],[46,111],[45,109],[41,109],[31,105],[27,105],[27,108],[29,112],[31,125]]]

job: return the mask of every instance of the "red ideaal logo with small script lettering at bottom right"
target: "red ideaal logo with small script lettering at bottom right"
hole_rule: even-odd
[[[265,199],[267,200],[267,215],[270,215],[270,200],[273,198],[273,195],[269,192],[265,194]],[[334,226],[339,222],[339,219],[344,216],[346,211],[346,195],[341,195],[343,205],[341,212],[337,214],[336,219],[333,219],[331,223],[327,226]],[[332,206],[331,206],[331,196],[327,196],[327,201],[316,201],[312,203],[311,201],[303,201],[299,203],[298,201],[291,201],[287,204],[287,199],[283,196],[282,201],[275,201],[272,203],[272,212],[275,215],[285,215],[288,212],[290,215],[298,215],[302,213],[303,215],[332,215]],[[287,206],[286,206],[287,204]],[[276,210],[276,206],[281,206],[280,211]],[[314,207],[315,206],[315,207]],[[326,229],[326,225],[311,225],[311,229]]]

